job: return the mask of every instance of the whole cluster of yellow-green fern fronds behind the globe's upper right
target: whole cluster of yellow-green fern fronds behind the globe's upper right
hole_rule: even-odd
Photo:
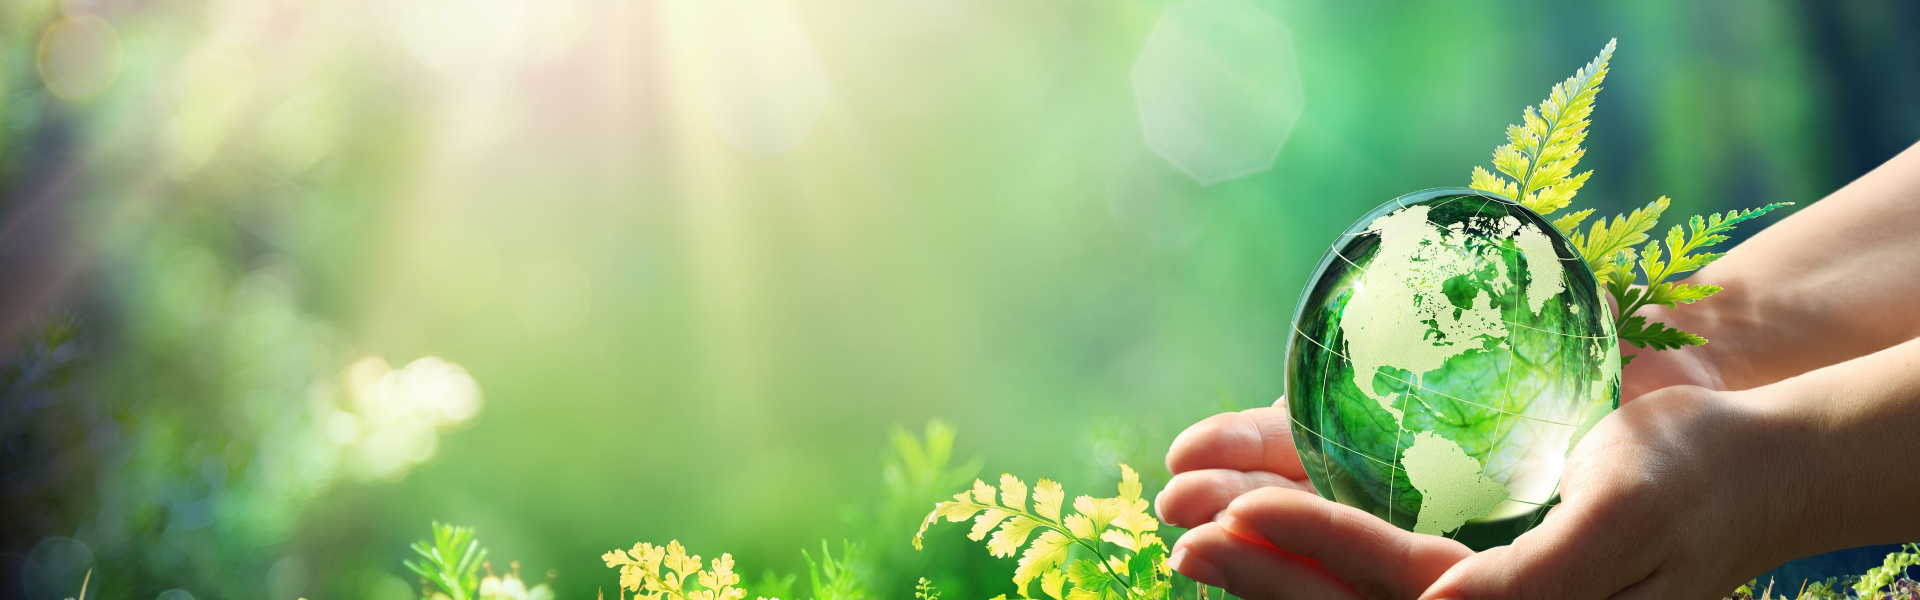
[[[1613,48],[1615,42],[1609,40],[1594,62],[1555,85],[1548,100],[1540,102],[1538,108],[1523,110],[1521,123],[1507,125],[1507,144],[1494,148],[1494,171],[1500,175],[1473,167],[1471,187],[1513,198],[1542,217],[1572,204],[1574,194],[1594,175],[1592,169],[1580,173],[1572,169],[1586,156],[1586,148],[1580,144],[1586,140],[1588,117],[1594,113],[1594,96],[1599,94],[1599,83],[1607,79]],[[1668,204],[1670,200],[1661,196],[1626,215],[1615,215],[1611,223],[1601,217],[1584,233],[1580,225],[1594,213],[1592,208],[1553,219],[1553,227],[1567,235],[1594,277],[1613,296],[1613,329],[1636,348],[1672,350],[1705,344],[1707,338],[1667,323],[1649,323],[1636,312],[1645,306],[1693,304],[1720,292],[1720,287],[1715,285],[1686,285],[1674,279],[1718,260],[1720,252],[1703,250],[1724,242],[1734,225],[1791,202],[1695,215],[1688,219],[1686,229],[1674,225],[1667,231],[1663,252],[1661,242],[1647,242],[1647,233],[1659,225]],[[1636,252],[1634,246],[1640,242],[1647,244]],[[1634,267],[1640,267],[1638,275]],[[1645,279],[1645,285],[1636,287],[1638,279]],[[1622,362],[1632,360],[1632,354],[1622,358]]]

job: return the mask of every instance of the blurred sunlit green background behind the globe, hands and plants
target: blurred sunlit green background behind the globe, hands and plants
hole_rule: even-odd
[[[0,594],[409,598],[432,519],[563,598],[637,540],[912,556],[929,419],[1152,492],[1281,394],[1331,237],[1615,37],[1586,206],[1920,138],[1895,0],[8,0]]]

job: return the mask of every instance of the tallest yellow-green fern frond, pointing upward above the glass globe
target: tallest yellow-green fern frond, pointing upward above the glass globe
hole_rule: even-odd
[[[1594,175],[1594,171],[1574,175],[1574,167],[1586,156],[1580,144],[1586,142],[1594,96],[1607,79],[1615,42],[1609,40],[1594,62],[1555,85],[1538,108],[1528,106],[1521,112],[1521,125],[1509,125],[1507,142],[1494,148],[1494,169],[1505,179],[1475,167],[1473,188],[1513,198],[1540,215],[1572,204],[1574,194]]]

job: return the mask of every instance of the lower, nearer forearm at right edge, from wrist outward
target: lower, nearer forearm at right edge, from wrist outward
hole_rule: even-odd
[[[1920,538],[1920,338],[1743,394],[1780,440],[1753,494],[1799,500],[1789,550]]]

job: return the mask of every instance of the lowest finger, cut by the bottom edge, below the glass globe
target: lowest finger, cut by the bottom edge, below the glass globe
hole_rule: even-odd
[[[1194,527],[1173,544],[1167,565],[1192,581],[1261,600],[1359,600],[1354,588],[1311,560],[1227,533],[1215,523]]]

